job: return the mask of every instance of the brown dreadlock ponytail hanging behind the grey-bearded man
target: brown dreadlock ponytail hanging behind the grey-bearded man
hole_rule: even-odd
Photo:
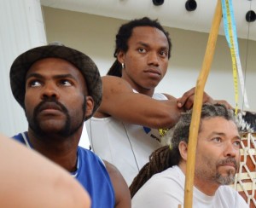
[[[172,167],[172,165],[177,165],[177,157],[174,156],[177,151],[174,149],[171,150],[169,146],[164,146],[151,153],[149,156],[149,162],[143,166],[131,183],[131,198],[154,174],[160,173],[161,171]]]

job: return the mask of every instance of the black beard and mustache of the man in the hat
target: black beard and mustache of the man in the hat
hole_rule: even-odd
[[[65,114],[65,117],[66,117],[65,124],[58,132],[48,132],[47,130],[43,130],[40,126],[40,122],[38,119],[38,113],[40,113],[40,108],[42,106],[44,106],[44,104],[47,102],[54,102],[55,105],[57,105],[58,107],[61,108],[61,112]],[[68,136],[72,136],[84,124],[84,118],[85,118],[84,113],[86,111],[85,96],[84,96],[84,103],[82,105],[82,111],[83,111],[83,118],[81,119],[79,124],[77,124],[76,126],[72,126],[71,116],[68,113],[67,107],[65,107],[63,104],[61,104],[61,102],[56,101],[55,98],[49,98],[47,100],[41,101],[38,104],[38,106],[35,107],[33,114],[32,114],[32,118],[29,118],[26,114],[26,119],[28,121],[28,125],[29,125],[30,129],[34,132],[34,134],[36,134],[39,137],[44,137],[44,136],[48,136],[48,135],[50,136],[54,133],[57,136],[66,138]]]

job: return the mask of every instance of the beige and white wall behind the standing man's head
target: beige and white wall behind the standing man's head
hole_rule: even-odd
[[[96,62],[101,74],[105,75],[114,61],[116,32],[125,20],[48,7],[44,7],[43,12],[48,41],[59,40],[70,47],[84,51]],[[166,30],[170,32],[172,38],[172,58],[166,77],[156,90],[179,97],[195,86],[205,55],[208,34],[167,27]],[[239,46],[241,65],[246,71],[246,89],[250,108],[242,105],[241,91],[239,107],[256,111],[256,98],[253,95],[253,80],[256,79],[256,42],[239,39]],[[230,50],[223,36],[218,36],[206,91],[213,98],[229,101],[235,107]]]

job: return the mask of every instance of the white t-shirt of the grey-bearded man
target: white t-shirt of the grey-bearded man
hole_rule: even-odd
[[[131,200],[132,208],[167,208],[182,205],[185,176],[178,166],[155,174]],[[214,196],[194,187],[193,208],[246,208],[246,201],[229,186],[220,186]]]

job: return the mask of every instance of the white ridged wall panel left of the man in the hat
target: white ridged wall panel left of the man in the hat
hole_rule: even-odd
[[[9,86],[9,69],[26,49],[46,43],[39,0],[0,0],[0,132],[13,136],[27,130],[22,108]]]

